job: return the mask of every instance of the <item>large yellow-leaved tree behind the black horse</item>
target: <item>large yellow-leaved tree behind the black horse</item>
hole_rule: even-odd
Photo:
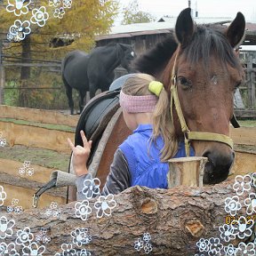
[[[17,3],[23,4],[24,8],[16,8],[16,10]],[[36,70],[31,70],[35,69],[33,63],[40,62],[45,64],[47,63],[45,61],[48,60],[60,62],[67,52],[76,49],[90,52],[95,46],[95,36],[108,33],[118,11],[118,2],[116,0],[73,0],[71,8],[63,8],[61,12],[56,12],[57,8],[54,7],[54,4],[58,3],[64,6],[64,4],[70,4],[71,0],[33,2],[30,0],[24,2],[22,0],[20,2],[19,0],[6,0],[4,4],[0,3],[0,40],[4,41],[4,61],[10,62],[12,60],[20,63],[20,67],[12,68],[13,71],[8,69],[8,72],[5,72],[6,80],[19,80],[20,87],[35,87],[37,84],[41,84],[44,87],[44,85],[47,85],[44,84],[47,79],[44,76],[35,76],[37,74]],[[26,6],[28,7],[28,13]],[[7,12],[6,8],[9,12]],[[20,13],[18,9],[26,12]],[[13,10],[16,10],[16,14],[20,14],[20,16],[14,15]],[[44,19],[42,20],[40,20],[42,15],[38,16],[37,21],[40,20],[40,22],[37,22],[37,24],[35,10],[48,13],[47,15],[44,13]],[[65,14],[61,17],[61,13],[64,13],[63,11]],[[8,42],[6,36],[11,26],[14,23],[17,24],[15,20],[21,20],[21,22],[30,21],[31,33],[28,33],[20,42],[19,40],[14,42],[15,40],[13,39],[15,38]],[[28,25],[28,23],[26,24]],[[26,31],[24,29],[22,31]],[[72,44],[63,47],[50,47],[53,38],[61,38],[64,41],[69,40]],[[31,62],[30,66],[28,66],[29,62]],[[18,68],[20,68],[19,72],[17,72]],[[31,77],[33,74],[34,77]],[[28,82],[29,77],[31,79]],[[49,87],[49,84],[47,86]],[[28,95],[22,92],[25,91],[20,90],[19,101],[20,106],[24,107],[26,105],[24,101],[28,101]]]

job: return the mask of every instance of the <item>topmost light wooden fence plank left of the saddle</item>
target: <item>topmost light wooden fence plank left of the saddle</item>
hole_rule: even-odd
[[[62,124],[76,127],[79,116],[64,115],[57,111],[0,106],[0,117],[43,123]]]

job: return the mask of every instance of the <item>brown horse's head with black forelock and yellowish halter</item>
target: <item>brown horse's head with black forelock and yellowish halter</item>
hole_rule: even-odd
[[[196,25],[190,12],[190,8],[183,10],[176,21],[178,47],[164,70],[163,82],[172,81],[177,136],[185,136],[196,156],[208,157],[204,183],[214,184],[228,178],[235,157],[229,121],[234,92],[244,73],[234,48],[244,37],[245,20],[238,12],[230,26],[220,31]]]

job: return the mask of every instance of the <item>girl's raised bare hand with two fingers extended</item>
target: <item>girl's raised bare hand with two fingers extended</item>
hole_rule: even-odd
[[[88,173],[87,170],[87,160],[91,153],[92,140],[87,140],[84,131],[80,131],[84,147],[77,145],[76,147],[72,141],[68,138],[69,147],[73,151],[73,167],[76,172],[76,176],[82,176]]]

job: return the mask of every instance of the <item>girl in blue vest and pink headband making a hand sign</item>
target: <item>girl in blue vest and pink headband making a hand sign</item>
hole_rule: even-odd
[[[170,101],[164,85],[153,76],[134,74],[127,78],[120,92],[120,106],[124,121],[132,130],[130,135],[116,149],[103,195],[117,194],[125,188],[140,185],[148,188],[168,188],[167,160],[186,156],[184,142],[175,139],[170,115]],[[80,132],[84,147],[74,146],[73,167],[77,180],[77,200],[82,200],[84,180],[90,179],[86,167],[92,140],[88,141]],[[191,151],[191,156],[194,152]],[[91,178],[92,179],[92,178]]]

